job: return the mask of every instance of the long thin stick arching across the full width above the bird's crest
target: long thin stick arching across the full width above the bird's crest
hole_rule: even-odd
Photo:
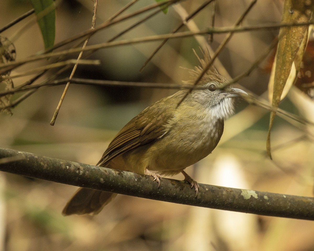
[[[203,35],[203,34],[211,34],[211,33],[227,33],[227,32],[247,32],[252,30],[261,30],[261,29],[278,29],[280,27],[290,27],[290,26],[304,26],[304,25],[310,25],[314,24],[314,22],[306,22],[306,23],[298,23],[298,24],[277,24],[277,25],[258,25],[258,26],[249,26],[249,27],[228,27],[228,28],[215,28],[215,29],[205,29],[202,31],[192,32],[192,31],[186,31],[186,32],[179,32],[175,34],[164,34],[164,35],[153,35],[153,36],[147,36],[142,38],[134,38],[134,39],[127,39],[127,40],[119,40],[114,42],[105,42],[100,43],[97,45],[89,45],[86,46],[83,51],[95,51],[102,48],[109,48],[114,46],[122,46],[122,45],[131,45],[136,43],[144,43],[144,42],[150,42],[150,41],[156,41],[156,40],[164,40],[166,38],[182,38],[182,37],[189,37],[194,35]],[[16,62],[8,62],[5,64],[0,64],[0,74],[3,72],[7,72],[8,70],[11,70],[14,67],[17,67],[19,65],[22,65],[26,62],[32,62],[41,60],[44,58],[49,57],[55,57],[55,56],[62,56],[62,55],[68,55],[71,53],[80,52],[81,48],[74,48],[74,49],[68,49],[64,51],[58,51],[58,52],[51,52],[51,53],[45,53],[38,56],[32,56],[24,60],[16,61]]]

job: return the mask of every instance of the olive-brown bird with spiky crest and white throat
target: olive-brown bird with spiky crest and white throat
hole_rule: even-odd
[[[208,50],[201,50],[203,59],[193,52],[201,65],[187,69],[190,79],[182,81],[191,87],[211,60]],[[224,131],[224,120],[234,113],[234,98],[246,94],[230,86],[219,88],[226,82],[212,65],[198,83],[202,88],[188,95],[187,88],[182,88],[151,104],[118,132],[97,166],[151,175],[158,187],[161,175],[182,173],[197,196],[200,187],[185,168],[214,150]],[[62,214],[96,215],[116,195],[79,188]]]

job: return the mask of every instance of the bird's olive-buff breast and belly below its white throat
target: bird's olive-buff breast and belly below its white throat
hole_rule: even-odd
[[[143,156],[147,168],[175,174],[210,154],[223,133],[224,121],[200,112],[175,114],[165,135]],[[174,171],[174,172],[172,172]]]

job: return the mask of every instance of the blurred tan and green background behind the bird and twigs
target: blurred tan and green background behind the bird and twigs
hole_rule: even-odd
[[[96,25],[127,3],[126,0],[100,1]],[[153,3],[153,0],[140,0],[126,13]],[[192,13],[202,3],[189,0],[170,7],[167,14],[157,14],[120,39],[169,33],[180,24],[184,11]],[[215,26],[234,25],[249,4],[248,0],[219,0]],[[1,5],[1,27],[32,8],[27,0],[3,0]],[[93,5],[90,0],[62,1],[56,11],[56,42],[89,29]],[[210,27],[212,9],[212,4],[204,8],[192,25],[200,30]],[[242,24],[277,24],[282,9],[282,0],[257,1]],[[89,40],[89,45],[111,39],[145,15],[98,32]],[[23,28],[23,33],[14,41],[17,60],[43,49],[37,24],[24,27],[31,18],[34,17],[1,34],[10,39]],[[245,72],[277,35],[278,30],[235,34],[215,63],[218,71],[227,78],[226,74],[236,77]],[[224,37],[225,34],[214,35],[213,42],[209,41],[209,35],[203,39],[215,50]],[[75,77],[181,83],[189,77],[186,68],[199,65],[192,49],[201,55],[200,39],[169,40],[142,72],[139,69],[160,42],[99,50],[89,59],[99,59],[101,65],[78,66]],[[312,62],[311,58],[308,60]],[[267,99],[271,62],[270,55],[239,84]],[[28,64],[11,74],[42,63]],[[58,78],[69,74],[70,71]],[[16,78],[14,85],[28,79]],[[96,164],[123,125],[148,105],[174,92],[71,84],[56,123],[51,126],[49,123],[63,89],[64,86],[41,88],[14,108],[12,116],[0,114],[1,147]],[[307,94],[294,88],[280,107],[314,121],[313,103]],[[313,196],[313,128],[277,116],[272,130],[273,161],[270,161],[266,155],[268,124],[269,113],[265,109],[237,100],[236,114],[225,122],[218,147],[207,158],[187,168],[187,173],[199,183]],[[174,178],[183,179],[183,176]],[[97,216],[63,217],[62,208],[76,187],[5,173],[0,174],[0,179],[2,250],[314,250],[314,223],[310,221],[219,211],[125,195],[118,195]]]

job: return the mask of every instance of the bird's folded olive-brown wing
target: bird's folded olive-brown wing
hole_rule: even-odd
[[[104,166],[118,155],[162,137],[165,124],[176,109],[176,104],[167,102],[169,98],[157,101],[130,120],[111,141],[97,165]]]

